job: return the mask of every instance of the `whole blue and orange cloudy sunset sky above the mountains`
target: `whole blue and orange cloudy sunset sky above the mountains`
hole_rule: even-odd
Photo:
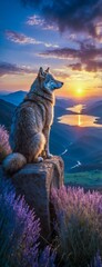
[[[102,0],[3,0],[0,90],[29,90],[40,66],[64,97],[102,97]]]

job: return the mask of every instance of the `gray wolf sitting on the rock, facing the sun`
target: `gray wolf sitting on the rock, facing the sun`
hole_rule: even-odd
[[[50,128],[53,122],[55,89],[63,82],[55,80],[40,68],[26,99],[17,107],[11,126],[10,146],[12,154],[7,156],[3,168],[7,172],[19,170],[27,162],[39,162],[51,158],[49,151]]]

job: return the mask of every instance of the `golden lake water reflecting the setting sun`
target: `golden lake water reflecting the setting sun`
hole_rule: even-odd
[[[102,127],[102,125],[95,123],[98,117],[81,115],[82,109],[84,109],[84,105],[76,105],[67,110],[76,112],[76,115],[64,115],[59,117],[59,122],[70,126],[79,126],[79,127]]]

